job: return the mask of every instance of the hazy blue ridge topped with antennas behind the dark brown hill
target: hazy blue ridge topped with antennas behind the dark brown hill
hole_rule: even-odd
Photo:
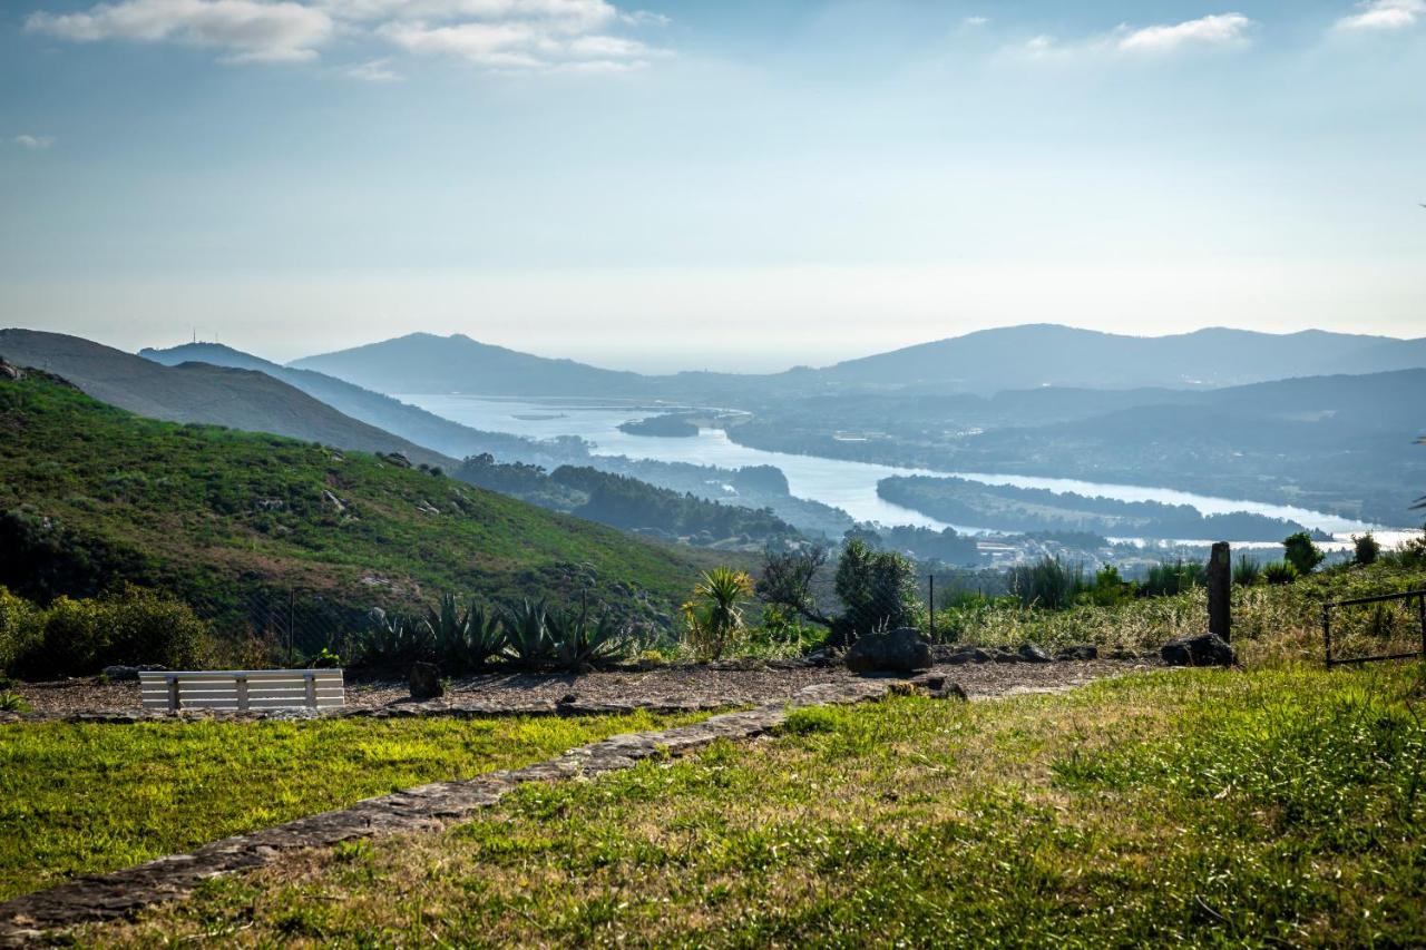
[[[315,369],[284,367],[221,344],[198,342],[171,347],[168,349],[148,348],[140,349],[138,355],[168,367],[184,362],[205,362],[214,367],[265,372],[274,379],[281,379],[354,419],[361,419],[368,425],[375,425],[404,439],[453,458],[489,452],[499,459],[540,459],[548,464],[560,464],[578,461],[583,456],[582,452],[573,452],[568,445],[560,446],[558,452],[552,454],[552,446],[538,444],[533,439],[505,432],[472,429],[459,422],[441,418],[434,412],[426,412],[418,407],[394,399],[389,395],[354,385],[345,379],[338,379]]]

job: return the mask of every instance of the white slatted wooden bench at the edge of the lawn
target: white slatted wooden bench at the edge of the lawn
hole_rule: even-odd
[[[339,669],[140,672],[144,709],[335,709],[347,702]]]

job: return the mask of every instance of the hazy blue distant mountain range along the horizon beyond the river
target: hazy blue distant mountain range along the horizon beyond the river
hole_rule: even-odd
[[[838,391],[990,395],[1040,387],[1192,389],[1288,377],[1420,368],[1426,367],[1426,339],[1318,330],[1279,335],[1224,328],[1127,337],[1032,324],[977,331],[820,369],[649,377],[535,357],[463,335],[409,334],[308,357],[291,365],[381,392],[680,399],[730,392],[744,397]]]

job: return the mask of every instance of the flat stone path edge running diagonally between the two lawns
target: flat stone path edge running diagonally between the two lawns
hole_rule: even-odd
[[[941,679],[927,686],[935,689]],[[597,776],[633,767],[645,759],[693,752],[719,739],[750,739],[781,725],[789,709],[876,702],[904,689],[906,683],[903,679],[816,683],[789,700],[716,715],[689,726],[613,736],[522,769],[422,785],[227,837],[187,854],[80,877],[0,903],[0,947],[26,946],[43,940],[47,931],[113,920],[150,904],[177,900],[204,880],[271,864],[294,850],[439,829],[495,805],[529,782]]]

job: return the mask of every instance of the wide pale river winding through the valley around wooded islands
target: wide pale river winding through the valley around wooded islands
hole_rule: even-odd
[[[1320,528],[1336,535],[1340,541],[1349,541],[1352,532],[1362,532],[1369,528],[1349,518],[1339,518],[1305,508],[1212,498],[1171,488],[1105,485],[1072,478],[1034,478],[1027,475],[997,475],[992,472],[933,472],[917,468],[848,462],[814,455],[766,452],[737,445],[727,438],[727,432],[723,429],[702,429],[696,436],[687,438],[629,435],[619,431],[622,422],[642,419],[655,415],[657,411],[649,407],[617,405],[599,399],[535,401],[411,394],[398,395],[396,398],[418,405],[428,412],[488,432],[511,432],[536,439],[578,435],[595,444],[593,451],[596,455],[626,455],[629,458],[647,458],[662,462],[717,465],[719,468],[774,465],[787,476],[787,485],[797,498],[820,501],[841,508],[857,521],[874,521],[888,526],[923,525],[940,529],[948,525],[934,518],[927,518],[910,508],[883,501],[877,496],[877,481],[888,475],[957,475],[987,485],[1047,488],[1052,492],[1077,492],[1079,495],[1098,495],[1119,501],[1156,501],[1169,505],[1192,505],[1205,515],[1235,511],[1256,512],[1272,518],[1288,518],[1308,528]],[[1378,529],[1378,538],[1387,546],[1397,543],[1406,533]]]

